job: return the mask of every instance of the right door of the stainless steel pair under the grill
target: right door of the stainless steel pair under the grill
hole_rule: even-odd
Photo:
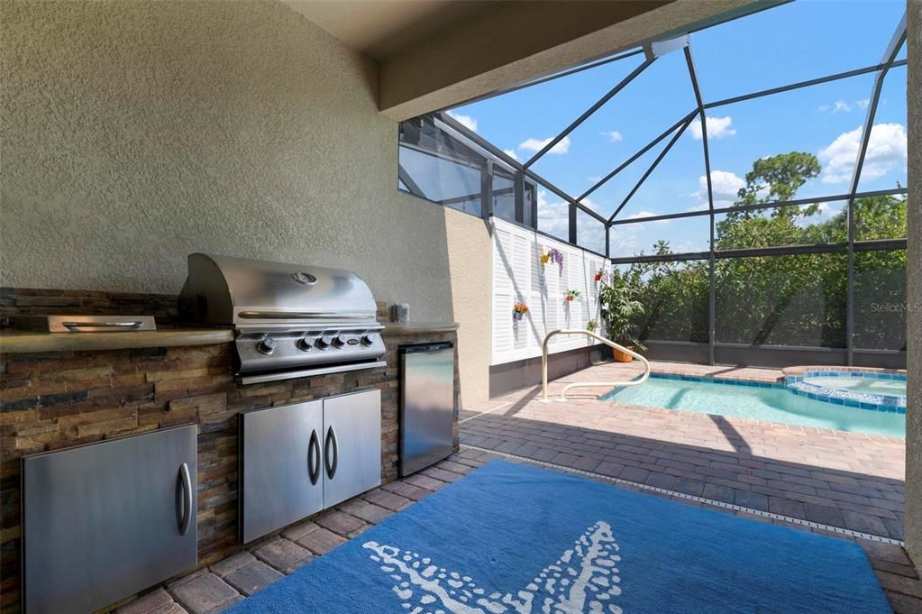
[[[381,391],[324,400],[324,506],[381,485]]]

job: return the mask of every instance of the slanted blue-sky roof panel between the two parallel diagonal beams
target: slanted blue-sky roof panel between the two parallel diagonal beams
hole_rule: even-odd
[[[568,194],[582,195],[696,105],[684,53],[667,53],[574,129],[565,148],[551,149],[532,168]]]

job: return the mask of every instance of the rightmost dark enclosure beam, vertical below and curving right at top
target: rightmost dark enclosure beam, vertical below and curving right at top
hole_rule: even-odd
[[[868,114],[865,117],[864,129],[861,131],[861,141],[858,145],[858,155],[855,159],[855,169],[852,171],[851,191],[848,196],[848,208],[845,218],[848,222],[848,273],[845,288],[845,350],[847,352],[847,364],[852,366],[855,361],[855,195],[858,191],[858,183],[861,182],[861,170],[864,167],[864,161],[868,155],[868,144],[870,142],[871,131],[874,127],[874,117],[877,115],[877,105],[881,100],[881,89],[883,89],[883,80],[887,77],[887,72],[896,59],[897,53],[900,53],[900,47],[906,40],[906,16],[900,19],[896,31],[887,50],[883,54],[881,70],[874,77],[874,89],[871,91],[868,105]]]

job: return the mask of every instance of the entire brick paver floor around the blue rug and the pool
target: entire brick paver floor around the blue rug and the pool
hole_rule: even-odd
[[[633,369],[633,365],[593,367],[558,380],[551,391],[572,381],[623,378],[624,372]],[[666,363],[656,364],[656,369],[687,374],[714,370],[722,371],[721,377],[745,379],[780,376],[773,370],[727,371]],[[601,392],[605,391],[574,392],[577,400],[567,404],[539,403],[539,389],[493,399],[462,413],[462,441],[756,510],[814,518],[825,525],[888,537],[902,535],[901,440],[616,406],[596,401],[595,395]],[[435,466],[291,525],[114,611],[220,612],[497,457],[485,450],[463,449]],[[624,483],[621,488],[643,490]],[[789,524],[689,502],[665,491],[647,492],[761,522]],[[922,612],[922,582],[904,549],[881,541],[856,541],[867,553],[895,614]]]

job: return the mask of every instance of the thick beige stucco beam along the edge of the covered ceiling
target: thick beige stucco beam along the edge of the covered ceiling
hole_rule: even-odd
[[[779,4],[783,3],[504,2],[381,60],[378,108],[403,121]]]

